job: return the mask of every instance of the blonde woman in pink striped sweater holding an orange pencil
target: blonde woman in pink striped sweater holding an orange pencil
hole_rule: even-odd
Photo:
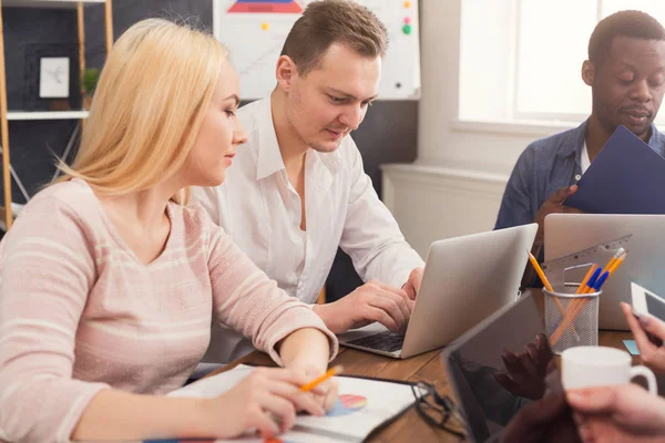
[[[321,392],[298,387],[325,371],[335,337],[184,206],[245,142],[237,105],[212,35],[153,19],[115,43],[73,165],[0,244],[0,440],[273,435],[296,410],[324,413]],[[212,321],[286,369],[215,399],[161,396],[185,382]]]

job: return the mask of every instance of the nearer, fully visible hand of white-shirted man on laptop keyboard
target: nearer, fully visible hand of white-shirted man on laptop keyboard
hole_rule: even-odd
[[[335,333],[380,322],[396,332],[403,332],[411,318],[413,300],[402,289],[372,280],[355,291],[314,310]]]

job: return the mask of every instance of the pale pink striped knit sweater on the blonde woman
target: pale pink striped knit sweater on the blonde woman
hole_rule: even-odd
[[[167,206],[162,255],[141,264],[83,181],[51,186],[0,243],[0,440],[65,442],[100,390],[162,394],[205,352],[212,321],[275,344],[313,327],[337,341],[215,226]]]

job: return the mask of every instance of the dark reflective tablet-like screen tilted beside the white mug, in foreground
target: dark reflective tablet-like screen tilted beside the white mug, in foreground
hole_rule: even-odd
[[[454,341],[443,354],[456,401],[475,442],[498,440],[515,413],[542,398],[551,353],[540,348],[544,333],[536,300],[530,295],[502,308]],[[526,346],[538,352],[530,358]],[[505,353],[505,351],[512,352]],[[515,359],[518,359],[515,361]],[[538,364],[533,364],[533,361]],[[529,368],[524,377],[508,375],[507,364]]]

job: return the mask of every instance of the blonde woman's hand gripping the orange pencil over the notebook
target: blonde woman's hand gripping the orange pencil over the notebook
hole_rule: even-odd
[[[327,391],[319,387],[300,391],[309,381],[311,378],[299,370],[257,368],[229,391],[202,403],[206,430],[214,437],[255,430],[263,437],[272,437],[294,426],[297,411],[323,416],[326,411],[320,399]]]

